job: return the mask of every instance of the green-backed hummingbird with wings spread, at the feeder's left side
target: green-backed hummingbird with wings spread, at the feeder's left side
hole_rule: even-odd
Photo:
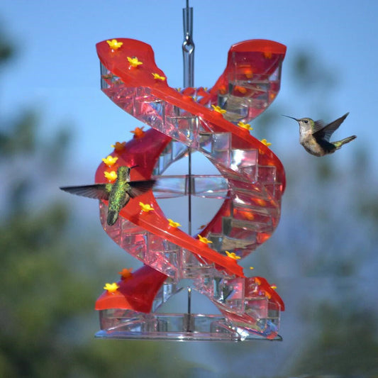
[[[131,167],[133,168],[133,167]],[[118,214],[128,204],[130,198],[135,198],[152,188],[155,180],[130,181],[130,167],[118,167],[116,182],[109,184],[82,185],[80,187],[61,187],[60,189],[78,196],[109,200],[109,226],[113,226]]]

